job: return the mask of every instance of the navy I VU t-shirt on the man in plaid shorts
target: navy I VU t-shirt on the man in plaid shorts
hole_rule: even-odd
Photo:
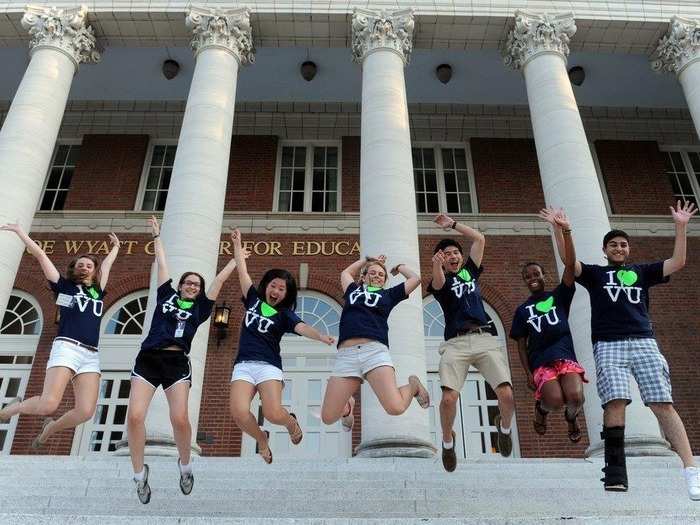
[[[576,282],[591,296],[593,342],[654,337],[649,320],[649,288],[667,283],[663,261],[625,266],[581,264]]]

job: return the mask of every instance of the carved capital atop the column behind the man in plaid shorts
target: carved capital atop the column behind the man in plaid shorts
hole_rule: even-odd
[[[569,55],[569,41],[576,33],[572,13],[561,15],[515,12],[515,27],[508,34],[504,62],[521,69],[540,53]]]

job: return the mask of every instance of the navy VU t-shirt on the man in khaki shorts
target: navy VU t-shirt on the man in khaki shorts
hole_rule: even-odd
[[[459,330],[488,323],[478,282],[483,271],[483,266],[477,268],[469,257],[457,273],[445,273],[442,288],[433,288],[432,281],[428,286],[428,292],[435,296],[445,314],[445,341],[457,337]]]

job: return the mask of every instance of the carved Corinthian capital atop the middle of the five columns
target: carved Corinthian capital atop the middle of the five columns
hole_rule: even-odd
[[[372,11],[355,8],[352,14],[352,58],[361,64],[376,49],[398,53],[407,64],[413,49],[413,9]]]

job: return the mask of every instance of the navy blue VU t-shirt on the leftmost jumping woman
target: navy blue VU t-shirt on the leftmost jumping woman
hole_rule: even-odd
[[[104,310],[104,292],[99,286],[85,286],[59,277],[49,286],[61,311],[58,337],[68,337],[97,348],[100,342],[100,318]]]

